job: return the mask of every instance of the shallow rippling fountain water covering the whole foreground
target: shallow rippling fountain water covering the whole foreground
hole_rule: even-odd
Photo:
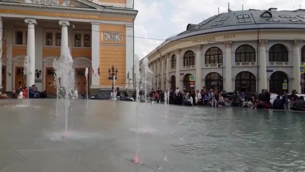
[[[0,172],[305,171],[304,113],[136,105],[1,100]]]

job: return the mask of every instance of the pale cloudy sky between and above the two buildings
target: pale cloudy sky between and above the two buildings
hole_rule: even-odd
[[[230,9],[278,10],[305,9],[305,0],[230,0]],[[228,10],[228,1],[224,0],[134,0],[138,10],[135,19],[134,36],[145,38],[167,39],[186,30],[189,23],[198,24],[213,15]],[[161,40],[135,38],[135,53],[141,58],[156,48]]]

